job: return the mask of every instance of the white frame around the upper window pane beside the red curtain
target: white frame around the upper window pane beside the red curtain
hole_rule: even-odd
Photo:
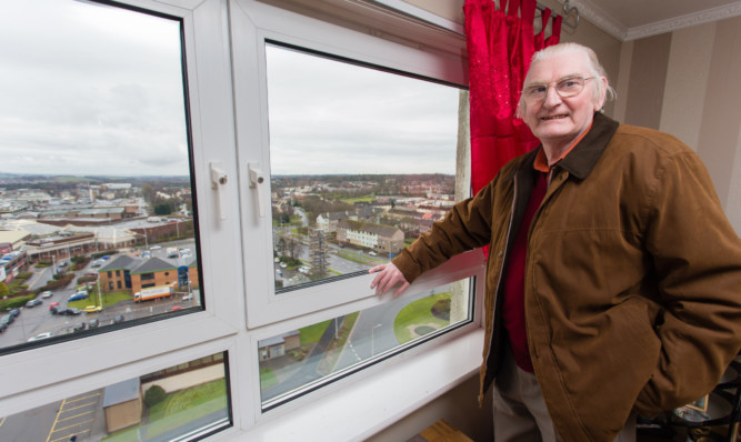
[[[268,210],[271,189],[266,41],[278,41],[453,84],[467,84],[461,59],[443,51],[429,48],[423,51],[374,38],[251,0],[236,0],[232,4],[231,43],[242,175],[240,187],[243,194],[241,209],[248,328],[254,329],[364,299],[369,301],[363,305],[382,302],[370,289],[373,275],[327,281],[276,293],[272,224]],[[249,164],[263,173],[262,184],[251,185]],[[262,217],[258,210],[260,205]],[[424,285],[428,279],[440,280],[441,274],[452,277],[444,282],[463,278],[461,272],[468,272],[467,275],[475,275],[477,272],[481,274],[481,269],[469,267],[470,263],[460,257],[452,259],[449,264],[444,270],[437,269],[425,274],[414,284]],[[410,292],[415,292],[414,288]]]

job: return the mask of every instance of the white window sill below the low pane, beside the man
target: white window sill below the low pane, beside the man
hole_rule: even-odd
[[[266,419],[246,433],[250,441],[301,440],[307,429],[311,429],[314,440],[367,439],[475,372],[483,335],[483,329],[477,329],[409,358],[392,359],[391,364],[369,376],[276,419]],[[226,440],[243,436],[241,433]]]

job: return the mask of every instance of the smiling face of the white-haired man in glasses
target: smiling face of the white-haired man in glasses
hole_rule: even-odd
[[[535,61],[530,66],[524,80],[524,89],[532,84],[548,84],[548,92],[542,100],[525,100],[524,122],[545,149],[564,149],[584,132],[592,123],[595,111],[592,78],[584,82],[584,89],[573,97],[562,98],[555,91],[555,83],[569,77],[592,77],[589,59],[581,52],[565,52]],[[600,102],[602,100],[599,100]]]

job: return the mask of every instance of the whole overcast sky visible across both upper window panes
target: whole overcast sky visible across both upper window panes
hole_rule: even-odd
[[[4,4],[0,173],[188,174],[179,27],[86,1]],[[454,173],[458,89],[266,52],[273,174]]]

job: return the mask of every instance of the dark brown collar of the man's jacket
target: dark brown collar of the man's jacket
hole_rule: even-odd
[[[615,120],[605,117],[601,112],[594,112],[594,122],[590,131],[557,165],[568,171],[572,177],[583,180],[594,169],[597,161],[602,157],[602,152],[607,149],[620,123]],[[514,168],[508,179],[514,178],[514,174],[523,168],[525,170],[532,169],[540,149],[542,149],[542,144],[538,145],[538,149],[523,154],[520,165]]]

